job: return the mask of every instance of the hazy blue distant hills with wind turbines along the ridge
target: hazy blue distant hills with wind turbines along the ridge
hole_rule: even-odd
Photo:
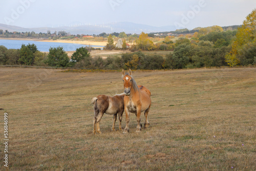
[[[113,33],[113,32],[125,32],[125,33],[141,33],[142,31],[145,33],[150,32],[164,32],[164,31],[172,31],[175,30],[175,26],[164,26],[164,27],[154,27],[142,24],[135,24],[130,22],[116,22],[109,24],[99,24],[99,25],[72,25],[72,26],[61,26],[61,27],[41,27],[41,28],[23,28],[17,26],[10,26],[5,24],[0,24],[0,29],[8,30],[10,32],[18,31],[18,32],[31,32],[34,31],[36,33],[47,33],[48,30],[51,32],[54,31],[66,31],[71,34],[100,34],[100,33]]]

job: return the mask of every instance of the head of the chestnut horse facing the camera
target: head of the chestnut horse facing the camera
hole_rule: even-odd
[[[131,94],[131,89],[138,90],[137,84],[132,76],[132,70],[129,69],[129,73],[124,73],[122,71],[122,79],[123,79],[123,87],[124,87],[124,94],[129,96]]]

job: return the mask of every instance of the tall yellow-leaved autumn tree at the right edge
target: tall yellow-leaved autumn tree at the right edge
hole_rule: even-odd
[[[256,9],[247,15],[241,28],[238,28],[232,50],[225,56],[230,67],[256,63]]]

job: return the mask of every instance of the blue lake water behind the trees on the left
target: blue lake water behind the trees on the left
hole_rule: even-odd
[[[44,42],[44,41],[30,41],[30,40],[2,40],[0,39],[0,46],[3,45],[7,49],[20,49],[22,44],[35,44],[37,49],[41,52],[49,52],[50,47],[57,48],[63,47],[65,51],[75,51],[77,48],[86,47],[89,45],[81,45],[81,44],[66,44],[60,42]],[[102,46],[94,46],[93,47],[102,47]]]

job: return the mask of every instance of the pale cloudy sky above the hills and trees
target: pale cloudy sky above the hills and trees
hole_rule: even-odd
[[[255,0],[0,0],[0,23],[33,28],[132,22],[188,28],[241,25]]]

